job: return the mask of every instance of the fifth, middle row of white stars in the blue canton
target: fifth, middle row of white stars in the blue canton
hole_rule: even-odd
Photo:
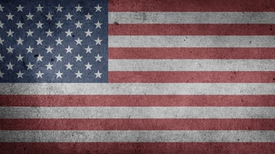
[[[4,41],[4,40],[2,40],[2,39],[0,38],[0,44],[3,45],[3,41]],[[24,40],[22,40],[21,38],[19,38],[19,40],[17,40],[17,45],[19,45],[19,44],[23,45],[23,41],[24,41]],[[43,45],[43,44],[42,44],[43,41],[44,41],[44,40],[41,40],[41,38],[39,37],[39,39],[36,40],[37,45],[39,45],[39,44]],[[56,41],[56,45],[58,45],[58,44],[61,44],[61,45],[62,45],[63,40],[61,40],[60,37],[58,37],[58,39],[55,40],[55,41]],[[75,41],[76,41],[76,45],[77,45],[77,44],[82,45],[81,42],[82,42],[83,40],[80,40],[80,38],[78,38],[78,39],[75,40]],[[100,38],[98,38],[98,39],[96,39],[96,40],[94,40],[94,41],[96,42],[96,45],[97,45],[97,44],[101,45],[102,40],[100,40]],[[8,48],[7,48],[7,49],[8,49]],[[10,49],[10,50],[13,50],[11,47],[10,47],[9,49]],[[11,52],[11,53],[12,53],[12,52]]]

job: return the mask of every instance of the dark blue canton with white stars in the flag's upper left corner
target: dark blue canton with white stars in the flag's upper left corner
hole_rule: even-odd
[[[0,1],[0,82],[107,82],[107,9],[107,0]]]

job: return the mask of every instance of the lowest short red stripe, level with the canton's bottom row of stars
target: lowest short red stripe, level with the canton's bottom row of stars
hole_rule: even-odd
[[[111,71],[111,83],[275,83],[275,72]]]

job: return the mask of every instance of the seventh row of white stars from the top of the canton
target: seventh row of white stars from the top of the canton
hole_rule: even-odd
[[[0,53],[0,61],[2,61],[3,62],[3,58],[4,58],[5,56],[2,56],[1,55],[1,53]],[[17,57],[17,62],[19,62],[19,61],[21,61],[21,62],[23,62],[23,56],[21,55],[21,54],[19,54],[19,56],[16,56]],[[40,54],[36,57],[37,58],[37,60],[36,60],[36,62],[39,62],[39,61],[41,61],[41,62],[43,62],[43,57],[44,56],[41,56]],[[81,59],[83,58],[83,56],[80,56],[79,55],[79,53],[78,53],[78,56],[74,56],[75,58],[76,58],[76,62],[82,62],[81,61]],[[58,62],[58,61],[61,61],[62,62],[62,58],[63,58],[63,56],[61,56],[60,54],[58,54],[58,56],[56,56],[56,62]],[[101,58],[102,58],[102,56],[100,56],[99,54],[95,57],[96,58],[96,62],[101,62]],[[8,66],[8,65],[7,65]],[[12,65],[12,66],[14,66],[14,65]],[[8,68],[9,69],[9,68]],[[12,68],[10,68],[10,69],[12,69]]]

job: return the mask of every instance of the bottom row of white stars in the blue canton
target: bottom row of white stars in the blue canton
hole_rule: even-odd
[[[16,73],[16,74],[17,74],[17,78],[23,78],[23,75],[25,73],[21,73],[21,70],[19,70],[19,73]],[[35,73],[35,74],[37,75],[36,78],[39,78],[39,77],[43,78],[42,75],[44,75],[45,73],[41,73],[41,71],[39,70],[39,73]],[[64,73],[61,73],[60,70],[58,70],[58,73],[54,73],[54,74],[56,74],[56,79],[58,79],[59,77],[62,79],[62,75]],[[78,78],[78,77],[81,78],[81,75],[83,75],[83,73],[80,73],[79,70],[77,73],[74,73],[74,74],[76,75],[76,78]],[[101,78],[102,73],[100,73],[99,70],[97,73],[94,73],[94,74],[96,75],[96,78],[98,78],[98,77]],[[0,70],[0,77],[3,78],[3,75],[5,75],[5,73],[2,73]]]

